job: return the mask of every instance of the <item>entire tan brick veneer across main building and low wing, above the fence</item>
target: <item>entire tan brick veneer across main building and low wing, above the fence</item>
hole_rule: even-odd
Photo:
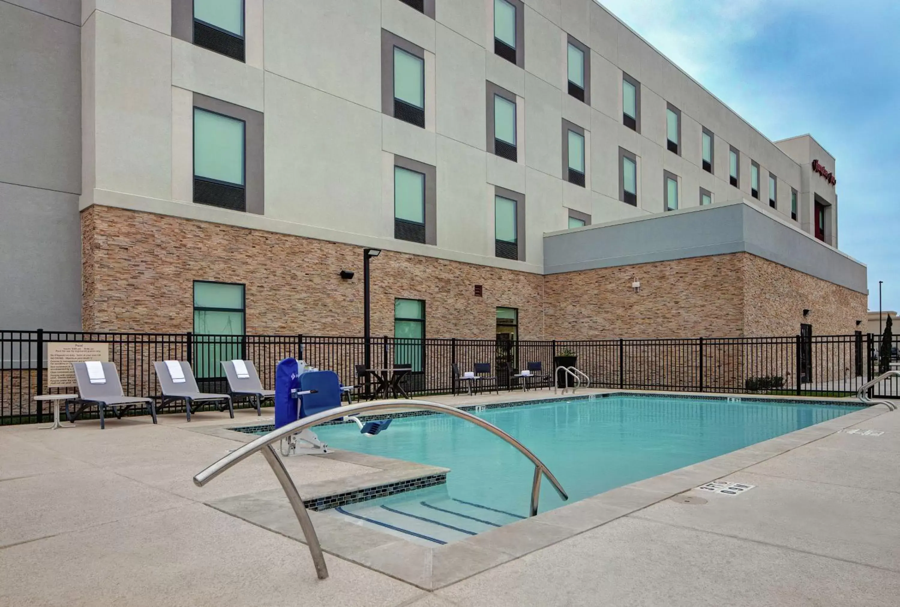
[[[250,333],[363,332],[360,247],[94,205],[82,259],[86,331],[191,331],[196,279],[247,285]],[[521,339],[588,340],[796,335],[801,322],[846,335],[867,303],[749,253],[539,276],[384,251],[372,294],[374,336],[393,334],[404,297],[426,301],[428,337],[469,339],[494,337],[497,306],[518,308]]]

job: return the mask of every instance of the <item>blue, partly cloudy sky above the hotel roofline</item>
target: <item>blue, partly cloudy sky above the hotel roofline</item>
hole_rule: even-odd
[[[602,0],[770,140],[836,159],[838,248],[900,307],[900,2]]]

